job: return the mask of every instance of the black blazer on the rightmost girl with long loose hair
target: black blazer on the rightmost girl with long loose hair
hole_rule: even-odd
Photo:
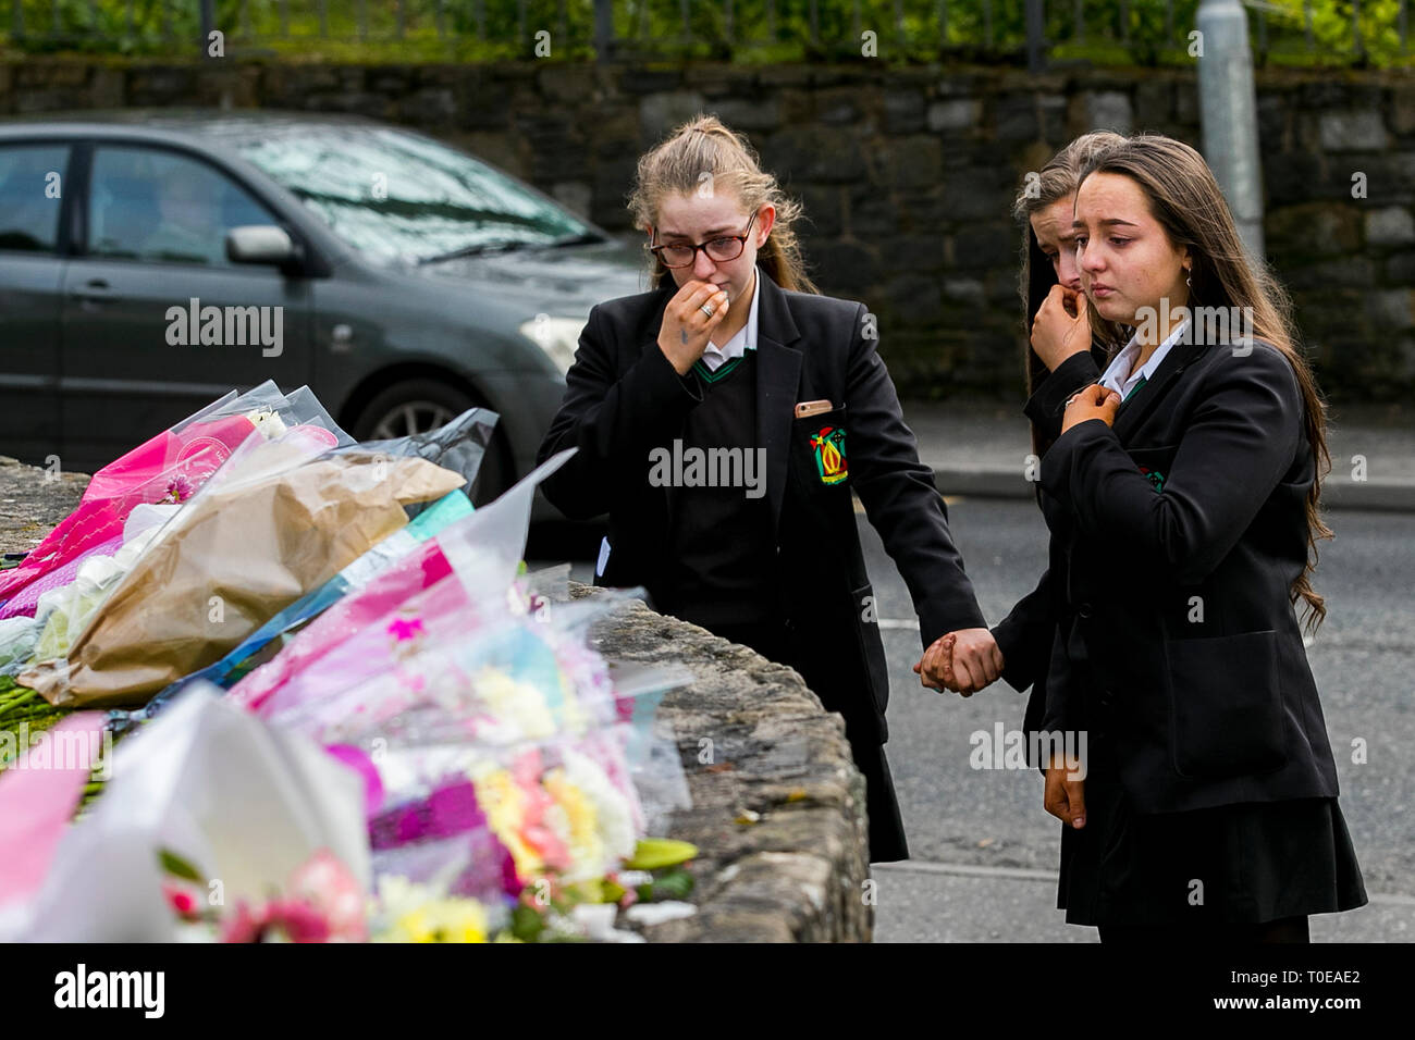
[[[1098,376],[1070,358],[1029,415],[1060,424]],[[1180,342],[1114,429],[1080,423],[1041,460],[1058,625],[1029,723],[1112,741],[1142,812],[1337,795],[1290,599],[1316,477],[1303,408],[1271,344]]]

